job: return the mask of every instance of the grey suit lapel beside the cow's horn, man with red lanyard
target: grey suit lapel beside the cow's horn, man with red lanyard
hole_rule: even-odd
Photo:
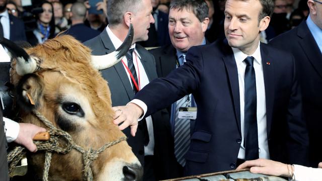
[[[115,51],[115,47],[105,30],[100,34],[100,37],[101,37],[101,40],[104,44],[104,47],[105,47],[104,51],[106,54]],[[131,82],[126,74],[126,71],[124,69],[122,62],[121,61],[118,62],[117,64],[115,64],[111,68],[114,68],[115,71],[117,72],[117,74],[119,75],[119,77],[122,81],[122,84],[126,90],[127,96],[129,97],[130,100],[132,100],[134,97],[132,85],[131,85]]]

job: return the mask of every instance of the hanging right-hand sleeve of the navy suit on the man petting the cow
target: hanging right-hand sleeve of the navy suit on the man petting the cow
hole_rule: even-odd
[[[308,133],[302,114],[302,99],[293,56],[292,59],[293,83],[287,113],[287,125],[289,128],[287,148],[290,163],[308,165]]]

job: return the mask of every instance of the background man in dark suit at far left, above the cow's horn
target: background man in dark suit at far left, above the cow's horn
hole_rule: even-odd
[[[7,3],[8,0],[0,0],[0,36],[11,41],[27,41],[24,22],[8,13]]]

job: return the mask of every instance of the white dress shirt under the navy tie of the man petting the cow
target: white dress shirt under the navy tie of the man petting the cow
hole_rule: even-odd
[[[235,57],[237,71],[238,71],[238,83],[239,83],[239,97],[240,97],[240,127],[241,127],[241,144],[238,152],[239,159],[245,159],[245,58],[248,56],[254,57],[254,69],[256,76],[256,94],[257,94],[257,129],[258,129],[258,146],[259,157],[270,158],[267,142],[267,124],[266,124],[266,97],[265,97],[265,84],[264,73],[262,65],[262,56],[260,43],[256,51],[252,55],[246,55],[237,48],[232,48],[233,55]]]

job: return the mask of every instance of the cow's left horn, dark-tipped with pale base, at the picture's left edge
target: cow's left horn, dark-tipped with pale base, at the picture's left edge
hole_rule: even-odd
[[[11,57],[17,58],[16,71],[19,75],[23,76],[36,71],[37,61],[30,57],[23,48],[3,37],[0,38],[0,44],[9,50]]]

